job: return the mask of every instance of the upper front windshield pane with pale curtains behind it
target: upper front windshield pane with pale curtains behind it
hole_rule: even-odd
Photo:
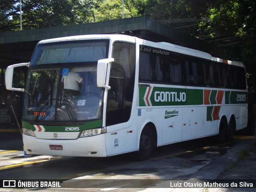
[[[85,40],[38,44],[31,66],[97,62],[106,58],[108,40]]]

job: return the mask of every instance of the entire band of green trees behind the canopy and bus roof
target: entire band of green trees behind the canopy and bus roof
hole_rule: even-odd
[[[0,0],[0,32],[20,29],[19,1]],[[146,15],[221,46],[223,57],[242,61],[250,77],[256,76],[255,12],[255,0],[124,0],[124,18]],[[22,0],[23,29],[120,18],[122,0]]]

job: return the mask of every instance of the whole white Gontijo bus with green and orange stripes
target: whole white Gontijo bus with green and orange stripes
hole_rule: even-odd
[[[19,66],[25,89],[12,86]],[[231,139],[248,121],[241,62],[122,34],[42,40],[30,63],[7,68],[6,88],[24,91],[24,150],[35,155],[146,160],[166,144]]]

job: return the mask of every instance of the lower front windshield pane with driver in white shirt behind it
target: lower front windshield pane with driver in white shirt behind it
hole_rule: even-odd
[[[23,118],[34,123],[100,119],[102,95],[96,66],[30,69]]]

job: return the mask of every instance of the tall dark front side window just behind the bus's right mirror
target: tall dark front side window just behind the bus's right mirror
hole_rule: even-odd
[[[127,122],[131,116],[135,82],[135,45],[115,42],[114,62],[110,71],[110,87],[106,113],[107,126]]]

